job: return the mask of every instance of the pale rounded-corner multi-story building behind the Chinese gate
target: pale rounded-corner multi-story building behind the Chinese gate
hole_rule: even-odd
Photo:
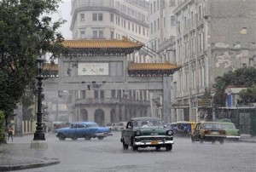
[[[70,29],[73,32],[73,39],[120,40],[126,36],[131,41],[148,43],[148,2],[145,0],[73,0],[71,14]],[[127,60],[147,62],[148,58],[145,52],[138,51],[128,55]],[[67,66],[67,72],[68,69],[69,66]],[[72,120],[88,120],[88,113],[99,114],[96,116],[102,117],[102,114],[106,114],[104,111],[108,111],[110,107],[119,109],[119,111],[107,112],[111,116],[110,121],[102,121],[101,118],[94,120],[104,125],[151,114],[148,90],[80,90],[75,91],[74,96],[74,102],[84,99],[84,102],[90,103],[84,103],[83,108],[81,105],[75,105],[74,108],[81,108],[75,110],[79,114]],[[105,97],[112,97],[113,103],[111,104]],[[91,99],[95,99],[95,101],[91,101]],[[100,108],[97,99],[101,100]],[[104,100],[106,100],[105,104]],[[136,102],[136,108],[123,103],[132,100]],[[139,106],[140,104],[142,106]],[[90,111],[86,111],[85,106],[90,106]],[[120,113],[118,114],[119,118],[113,118],[115,113]]]

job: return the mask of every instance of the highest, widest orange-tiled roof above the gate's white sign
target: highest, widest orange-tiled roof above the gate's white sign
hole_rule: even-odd
[[[143,43],[133,42],[127,37],[116,39],[80,39],[65,40],[64,47],[70,49],[72,54],[82,55],[125,55],[143,47]]]

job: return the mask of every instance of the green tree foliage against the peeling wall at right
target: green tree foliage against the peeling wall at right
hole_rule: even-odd
[[[213,97],[213,105],[215,107],[225,106],[224,90],[228,85],[251,87],[256,83],[256,69],[254,67],[243,67],[235,72],[224,73],[223,77],[216,77],[213,88],[215,95]]]

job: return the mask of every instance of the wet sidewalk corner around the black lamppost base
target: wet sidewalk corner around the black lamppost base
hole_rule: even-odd
[[[0,145],[0,171],[32,169],[60,163],[49,145],[45,149],[31,148],[32,139],[33,135],[17,136],[13,142],[9,140],[8,144]]]

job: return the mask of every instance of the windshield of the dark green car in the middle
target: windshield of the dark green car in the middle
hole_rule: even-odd
[[[161,120],[138,120],[133,123],[134,128],[159,128],[164,127],[165,123]]]

